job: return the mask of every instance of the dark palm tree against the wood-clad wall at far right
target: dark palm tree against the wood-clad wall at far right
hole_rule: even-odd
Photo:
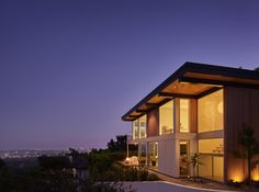
[[[258,142],[254,137],[254,129],[248,124],[243,124],[241,131],[238,133],[238,144],[245,149],[245,157],[247,158],[248,179],[247,184],[251,181],[251,165],[252,157],[258,154]]]

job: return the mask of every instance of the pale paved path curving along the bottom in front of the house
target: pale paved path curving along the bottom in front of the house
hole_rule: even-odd
[[[123,182],[125,187],[131,185],[136,192],[234,192],[227,190],[201,189],[171,183],[167,181],[143,181],[143,182]],[[239,191],[240,192],[240,191]]]

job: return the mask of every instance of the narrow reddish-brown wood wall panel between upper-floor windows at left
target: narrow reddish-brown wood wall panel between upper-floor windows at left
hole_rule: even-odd
[[[147,113],[147,137],[159,135],[159,108]]]

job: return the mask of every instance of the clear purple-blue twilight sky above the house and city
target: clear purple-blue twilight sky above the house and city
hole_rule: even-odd
[[[259,1],[1,0],[0,149],[105,147],[184,61],[259,66]]]

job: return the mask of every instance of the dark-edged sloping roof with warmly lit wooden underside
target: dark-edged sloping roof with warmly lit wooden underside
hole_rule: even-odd
[[[259,71],[185,63],[122,116],[134,121],[173,98],[201,98],[223,87],[259,89]]]

